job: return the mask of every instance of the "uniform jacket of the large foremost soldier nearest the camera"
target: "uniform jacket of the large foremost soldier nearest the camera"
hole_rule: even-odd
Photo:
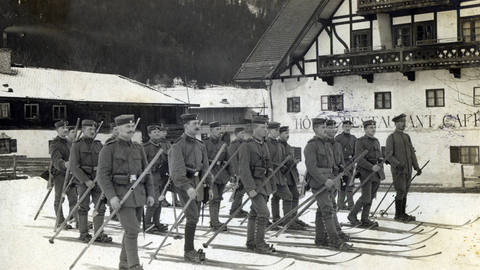
[[[109,201],[115,196],[122,200],[135,183],[130,181],[131,176],[135,175],[138,181],[147,166],[145,152],[139,143],[117,138],[100,151],[97,180]],[[142,207],[147,197],[154,197],[154,194],[153,180],[147,173],[122,207]]]

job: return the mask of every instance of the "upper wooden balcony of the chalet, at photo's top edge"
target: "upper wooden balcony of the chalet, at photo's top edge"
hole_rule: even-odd
[[[441,7],[449,6],[453,2],[451,0],[358,0],[357,14],[369,15],[424,7]]]

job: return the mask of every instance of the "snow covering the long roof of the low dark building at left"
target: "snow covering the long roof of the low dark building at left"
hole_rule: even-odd
[[[43,68],[12,69],[16,75],[0,73],[0,97],[189,105],[119,75]],[[9,88],[13,91],[9,92]]]

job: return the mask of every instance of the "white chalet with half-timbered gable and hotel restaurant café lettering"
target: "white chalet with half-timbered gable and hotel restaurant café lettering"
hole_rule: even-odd
[[[416,183],[459,186],[461,165],[479,164],[478,0],[291,0],[235,80],[267,84],[292,145],[314,117],[350,119],[357,137],[374,119],[385,145],[405,113],[420,165],[430,160]]]

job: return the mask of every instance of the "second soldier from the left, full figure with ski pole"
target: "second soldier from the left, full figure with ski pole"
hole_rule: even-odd
[[[88,233],[90,197],[92,197],[92,201],[96,206],[102,194],[100,187],[94,182],[98,165],[98,153],[100,153],[100,149],[102,149],[102,143],[95,140],[96,128],[97,123],[95,121],[83,120],[83,136],[73,143],[70,150],[70,170],[75,176],[78,196],[82,197],[88,188],[91,189],[85,199],[80,202],[80,209],[78,210],[80,240],[85,243],[88,243],[90,239],[92,239],[92,236]],[[93,217],[95,232],[102,226],[105,216],[105,203],[100,201],[100,204],[98,214]],[[95,241],[108,243],[112,241],[112,238],[102,232]]]

